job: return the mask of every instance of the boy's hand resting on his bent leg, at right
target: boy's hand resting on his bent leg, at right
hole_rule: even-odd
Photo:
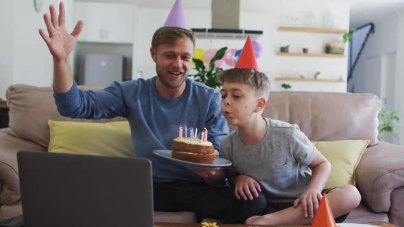
[[[313,218],[317,212],[318,202],[323,198],[321,193],[316,190],[307,190],[299,198],[294,200],[293,206],[296,208],[301,204],[303,217]]]

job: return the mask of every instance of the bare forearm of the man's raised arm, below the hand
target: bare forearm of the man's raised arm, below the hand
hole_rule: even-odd
[[[68,92],[72,86],[73,77],[68,58],[63,61],[53,59],[53,88],[57,92]]]

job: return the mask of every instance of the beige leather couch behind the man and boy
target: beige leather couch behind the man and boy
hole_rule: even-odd
[[[22,213],[18,150],[45,152],[49,144],[47,120],[72,120],[58,114],[51,88],[12,85],[7,90],[7,100],[10,128],[0,130],[0,219]],[[380,108],[381,102],[373,94],[272,92],[263,116],[298,124],[312,141],[369,139],[356,169],[362,202],[346,222],[391,222],[404,226],[404,147],[377,140]],[[190,212],[156,212],[155,219],[196,222]]]

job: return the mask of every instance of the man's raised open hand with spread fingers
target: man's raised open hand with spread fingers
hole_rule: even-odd
[[[75,49],[77,36],[79,36],[83,28],[83,21],[78,21],[73,32],[68,34],[63,2],[60,2],[59,5],[59,16],[56,15],[53,5],[49,6],[49,11],[51,18],[49,18],[48,14],[44,14],[44,21],[49,35],[43,29],[39,29],[39,34],[46,42],[49,51],[51,51],[53,60],[61,62],[68,59],[68,55]]]

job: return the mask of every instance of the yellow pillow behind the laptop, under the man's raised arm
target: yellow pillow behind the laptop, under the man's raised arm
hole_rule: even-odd
[[[60,122],[49,120],[49,152],[133,157],[127,121]]]

